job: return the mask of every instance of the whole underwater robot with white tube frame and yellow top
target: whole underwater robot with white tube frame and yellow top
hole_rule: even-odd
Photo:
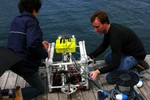
[[[80,66],[78,66],[78,74],[81,75],[82,86],[85,87],[85,89],[87,90],[89,89],[89,80],[82,77],[82,75],[85,74],[85,71],[88,72],[88,58],[85,49],[85,41],[79,41],[78,43],[79,45],[76,44],[76,38],[74,37],[74,35],[72,35],[72,37],[70,38],[62,38],[59,36],[56,39],[55,43],[53,42],[50,44],[50,47],[48,49],[50,57],[46,58],[45,60],[49,92],[52,92],[53,89],[60,88],[63,93],[74,93],[81,84],[68,84],[66,82],[68,77],[66,73],[69,72],[70,68],[75,68],[77,64]],[[77,60],[75,60],[76,58],[73,59],[72,54],[75,52],[80,53],[80,57]],[[62,54],[62,61],[54,62],[54,53]],[[61,82],[61,85],[56,86],[53,84],[53,82],[54,75],[57,72],[60,74],[61,77],[61,79],[59,80]],[[88,75],[85,75],[85,77],[88,77]]]

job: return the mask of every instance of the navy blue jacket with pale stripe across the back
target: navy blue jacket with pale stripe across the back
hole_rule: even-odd
[[[36,17],[24,11],[12,21],[7,47],[19,57],[36,62],[47,57],[42,36]]]

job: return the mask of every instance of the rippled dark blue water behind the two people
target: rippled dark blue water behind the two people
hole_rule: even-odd
[[[0,1],[0,46],[7,44],[10,23],[19,14],[19,0]],[[77,41],[85,40],[87,53],[93,51],[103,36],[94,32],[90,17],[96,10],[108,13],[110,22],[133,29],[150,53],[150,1],[149,0],[42,0],[38,20],[44,39],[54,42],[58,35],[75,35]],[[103,56],[100,55],[99,58]]]

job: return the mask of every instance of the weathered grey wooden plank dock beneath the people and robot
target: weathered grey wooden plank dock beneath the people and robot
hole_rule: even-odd
[[[147,55],[145,59],[149,65],[150,65],[150,55]],[[99,64],[102,64],[101,61],[98,62]],[[40,69],[40,74],[44,73],[43,76],[41,76],[43,83],[45,85],[45,88],[47,89],[47,92],[43,95],[40,95],[32,100],[98,100],[97,98],[97,87],[90,83],[90,90],[77,90],[75,93],[71,95],[66,95],[60,91],[49,93],[48,92],[48,82],[46,75],[46,69]],[[114,88],[113,85],[108,85],[105,80],[104,75],[100,75],[98,78],[98,82],[101,85],[103,89],[111,90]],[[139,93],[144,97],[145,100],[150,100],[150,69],[143,71],[142,73],[144,85],[138,89]],[[6,88],[14,88],[16,86],[25,87],[28,86],[28,84],[25,82],[23,78],[16,75],[15,73],[11,71],[5,72],[2,77],[0,78],[0,87],[2,89]]]

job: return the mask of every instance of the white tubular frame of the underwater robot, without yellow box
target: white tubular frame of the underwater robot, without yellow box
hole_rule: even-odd
[[[79,51],[80,51],[80,60],[76,61],[78,64],[81,65],[81,72],[84,73],[84,71],[82,71],[83,69],[85,69],[85,71],[88,71],[88,63],[87,63],[87,54],[86,54],[86,49],[85,49],[85,41],[79,41]],[[52,92],[52,89],[54,88],[62,88],[62,86],[53,86],[53,72],[52,72],[52,67],[53,66],[59,66],[59,65],[73,65],[74,62],[72,61],[72,59],[70,59],[69,62],[53,62],[53,56],[54,56],[54,49],[55,49],[55,43],[51,43],[51,46],[48,49],[48,52],[50,54],[49,58],[46,58],[45,60],[45,64],[46,64],[46,72],[47,72],[47,78],[48,78],[48,87],[49,87],[49,92]],[[72,56],[71,53],[69,53],[70,56]],[[80,74],[82,74],[80,73]],[[88,77],[88,75],[87,75]],[[85,85],[87,88],[89,89],[89,80],[85,79],[82,77],[82,80],[85,81]],[[79,86],[79,85],[75,85],[75,86]]]

